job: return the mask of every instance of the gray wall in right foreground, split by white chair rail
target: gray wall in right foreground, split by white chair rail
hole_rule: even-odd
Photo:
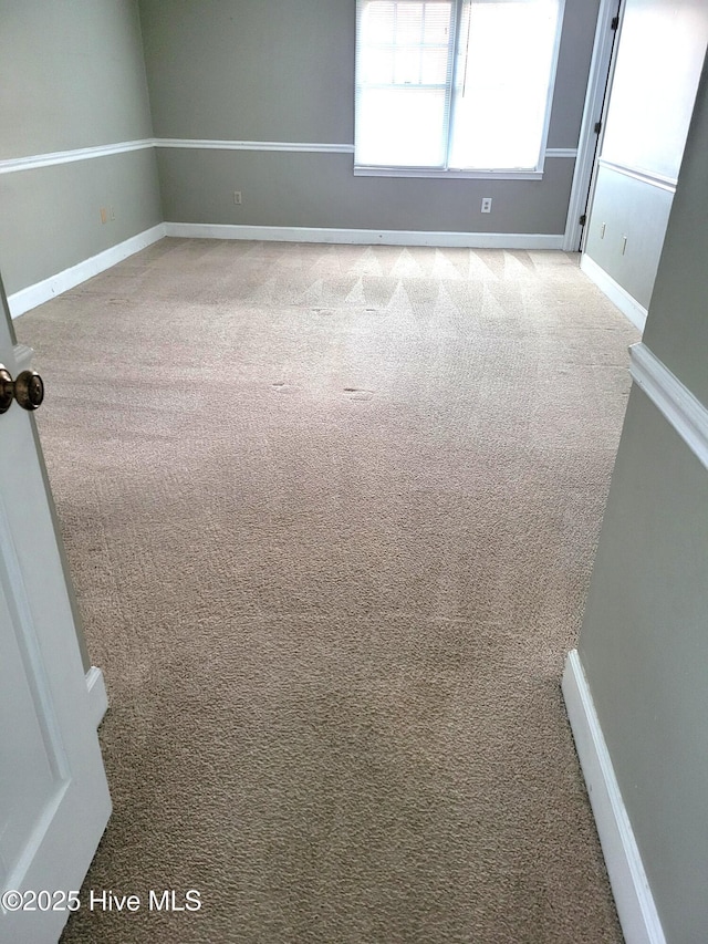
[[[708,74],[644,343],[708,406]],[[708,470],[633,387],[579,652],[669,944],[708,929]]]

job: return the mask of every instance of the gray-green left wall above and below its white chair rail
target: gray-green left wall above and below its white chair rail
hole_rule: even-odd
[[[0,0],[0,159],[152,136],[136,0]],[[0,204],[9,294],[162,221],[152,151],[0,174]]]

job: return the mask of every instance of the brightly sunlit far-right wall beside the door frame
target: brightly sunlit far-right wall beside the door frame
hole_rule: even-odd
[[[601,147],[601,158],[613,166],[598,168],[585,251],[644,308],[652,298],[707,41],[705,0],[625,2]],[[649,175],[655,183],[626,172]]]

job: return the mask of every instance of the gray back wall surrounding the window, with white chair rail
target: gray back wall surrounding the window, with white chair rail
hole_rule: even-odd
[[[598,0],[566,0],[549,146],[577,145]],[[157,137],[353,144],[354,0],[140,0]],[[573,160],[542,181],[352,175],[352,155],[158,151],[174,222],[562,234]],[[242,191],[241,207],[232,191]],[[493,197],[491,215],[480,214]]]

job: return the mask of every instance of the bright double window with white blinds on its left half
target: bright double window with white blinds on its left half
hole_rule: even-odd
[[[363,173],[540,172],[563,0],[357,0]]]

